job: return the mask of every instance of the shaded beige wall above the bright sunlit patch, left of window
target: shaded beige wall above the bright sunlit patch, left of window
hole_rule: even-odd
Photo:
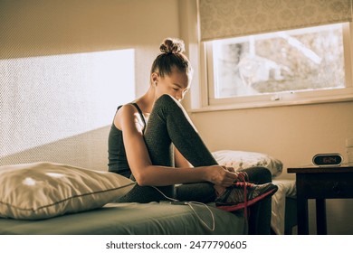
[[[177,0],[0,0],[0,59],[133,48],[137,92],[158,45],[179,35]]]

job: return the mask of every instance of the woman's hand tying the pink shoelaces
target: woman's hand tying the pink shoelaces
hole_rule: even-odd
[[[220,165],[205,167],[207,181],[215,185],[228,187],[237,180],[237,174],[234,170],[225,168]]]

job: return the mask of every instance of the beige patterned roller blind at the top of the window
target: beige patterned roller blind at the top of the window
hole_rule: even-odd
[[[201,41],[350,22],[352,0],[199,0]]]

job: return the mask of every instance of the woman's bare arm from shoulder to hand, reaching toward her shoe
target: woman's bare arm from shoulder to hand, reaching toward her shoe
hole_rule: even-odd
[[[234,173],[225,171],[219,165],[196,168],[153,165],[138,117],[136,109],[126,105],[119,109],[114,124],[122,130],[129,167],[139,185],[211,182],[227,187],[236,179]]]

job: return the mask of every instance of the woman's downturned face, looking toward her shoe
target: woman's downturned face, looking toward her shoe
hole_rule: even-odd
[[[154,74],[156,74],[154,76]],[[176,100],[181,101],[187,90],[190,89],[190,79],[185,72],[174,69],[170,75],[160,77],[157,73],[152,74],[156,90],[156,98],[168,94]]]

